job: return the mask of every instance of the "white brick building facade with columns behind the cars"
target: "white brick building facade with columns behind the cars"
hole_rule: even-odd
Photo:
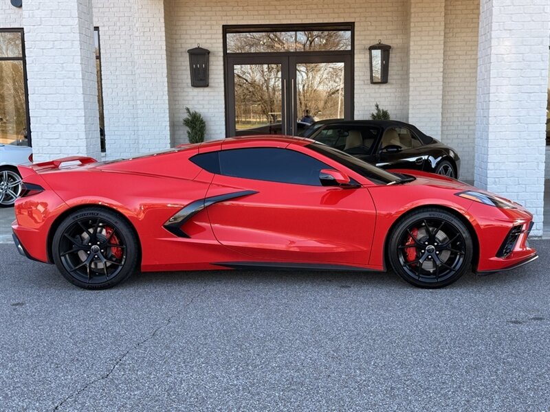
[[[3,0],[0,30],[24,34],[34,159],[175,146],[186,141],[186,106],[205,117],[208,139],[226,137],[223,26],[281,23],[353,23],[351,115],[367,118],[378,102],[453,146],[461,179],[526,205],[542,234],[550,0]],[[392,47],[387,84],[370,81],[368,48],[379,39]],[[204,88],[190,86],[197,43],[210,50]]]

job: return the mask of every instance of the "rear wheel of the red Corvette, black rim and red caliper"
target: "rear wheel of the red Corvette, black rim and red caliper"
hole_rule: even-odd
[[[54,262],[61,275],[85,289],[111,288],[135,272],[139,243],[114,211],[87,207],[69,214],[54,234]]]

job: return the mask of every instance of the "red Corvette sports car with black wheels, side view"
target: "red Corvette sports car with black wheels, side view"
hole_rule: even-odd
[[[66,165],[63,163],[78,163]],[[527,210],[445,176],[309,139],[239,137],[134,159],[20,166],[20,253],[83,288],[137,269],[393,270],[438,288],[537,258]]]

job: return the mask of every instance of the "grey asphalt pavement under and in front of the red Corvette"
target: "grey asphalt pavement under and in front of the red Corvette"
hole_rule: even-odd
[[[550,411],[550,242],[421,290],[393,273],[67,283],[0,244],[1,411]]]

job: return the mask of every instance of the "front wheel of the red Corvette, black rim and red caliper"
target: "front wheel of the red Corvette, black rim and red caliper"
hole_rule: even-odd
[[[472,267],[472,236],[448,211],[419,209],[397,223],[388,241],[395,273],[420,288],[443,288]]]

